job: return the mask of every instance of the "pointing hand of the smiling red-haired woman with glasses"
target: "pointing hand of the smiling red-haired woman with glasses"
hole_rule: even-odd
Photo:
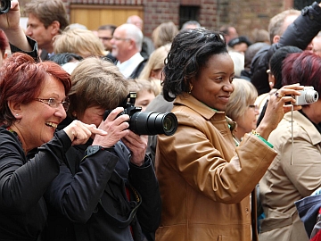
[[[63,129],[68,137],[70,137],[71,145],[85,144],[92,136],[106,136],[107,132],[103,129],[97,129],[95,125],[88,125],[80,120],[73,120],[70,125]]]

